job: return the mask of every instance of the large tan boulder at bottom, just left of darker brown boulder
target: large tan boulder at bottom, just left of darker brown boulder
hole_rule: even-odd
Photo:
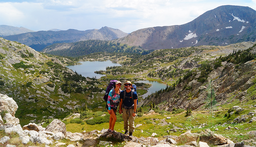
[[[199,134],[195,134],[195,133],[191,133],[190,131],[187,131],[179,135],[179,137],[176,139],[176,142],[181,144],[186,144],[191,141],[197,141],[199,136],[200,136]]]

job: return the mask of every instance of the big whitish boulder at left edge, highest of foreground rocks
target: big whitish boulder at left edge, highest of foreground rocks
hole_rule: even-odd
[[[13,98],[8,97],[7,95],[0,94],[0,111],[7,111],[13,117],[15,117],[15,112],[18,109],[18,105],[13,100]]]

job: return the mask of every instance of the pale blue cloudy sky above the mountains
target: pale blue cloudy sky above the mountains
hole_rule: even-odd
[[[256,10],[256,0],[0,0],[0,24],[34,31],[108,26],[131,33],[185,24],[222,5]]]

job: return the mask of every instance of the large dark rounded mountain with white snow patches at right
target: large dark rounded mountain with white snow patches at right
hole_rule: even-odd
[[[193,21],[174,26],[157,26],[132,32],[115,42],[144,49],[172,49],[199,45],[235,44],[256,38],[256,11],[249,7],[225,5]]]

